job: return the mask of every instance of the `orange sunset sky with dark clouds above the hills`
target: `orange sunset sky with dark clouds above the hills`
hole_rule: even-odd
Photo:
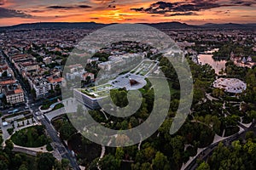
[[[62,21],[256,23],[256,0],[0,0],[0,26]]]

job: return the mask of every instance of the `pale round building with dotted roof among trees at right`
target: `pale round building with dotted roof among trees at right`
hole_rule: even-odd
[[[237,78],[219,78],[213,82],[214,88],[223,88],[225,92],[240,94],[247,89],[247,84]]]

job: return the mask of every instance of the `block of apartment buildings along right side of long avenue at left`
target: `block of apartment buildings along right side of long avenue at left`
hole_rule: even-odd
[[[16,51],[5,53],[15,65],[15,69],[28,82],[37,99],[48,96],[56,88],[61,88],[61,68],[51,69],[45,66],[46,63],[38,62],[31,54],[20,54]],[[46,57],[44,61],[50,62],[50,58]]]

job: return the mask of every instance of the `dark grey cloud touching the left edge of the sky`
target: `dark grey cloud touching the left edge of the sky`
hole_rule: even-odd
[[[31,18],[32,15],[26,14],[20,10],[14,10],[9,8],[1,8],[0,7],[0,18]]]

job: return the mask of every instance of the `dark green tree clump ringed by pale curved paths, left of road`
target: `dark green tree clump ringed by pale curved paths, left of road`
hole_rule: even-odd
[[[11,137],[14,144],[38,148],[49,143],[49,139],[44,133],[43,126],[26,127],[14,133]]]

